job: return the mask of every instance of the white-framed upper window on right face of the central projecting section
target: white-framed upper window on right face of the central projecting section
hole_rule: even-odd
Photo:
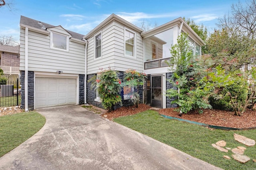
[[[133,31],[125,29],[124,31],[124,50],[125,55],[127,57],[134,57],[135,56],[135,43],[136,43],[136,34]]]

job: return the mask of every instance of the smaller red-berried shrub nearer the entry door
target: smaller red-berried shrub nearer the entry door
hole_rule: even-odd
[[[140,102],[140,95],[138,93],[139,86],[144,84],[144,80],[147,78],[145,73],[140,73],[136,70],[126,70],[124,73],[123,86],[128,86],[132,88],[134,92],[129,94],[129,100],[138,107]]]

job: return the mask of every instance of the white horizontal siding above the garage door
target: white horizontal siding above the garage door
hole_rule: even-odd
[[[58,27],[59,28],[59,27]],[[52,28],[54,30],[54,28]],[[64,33],[55,28],[54,31]],[[67,32],[66,32],[67,33]],[[50,35],[28,31],[28,71],[84,74],[85,45],[69,40],[69,51],[50,48]],[[25,29],[20,30],[20,70],[25,70]]]

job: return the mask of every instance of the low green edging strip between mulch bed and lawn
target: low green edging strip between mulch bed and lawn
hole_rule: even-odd
[[[250,129],[256,129],[256,127],[248,127],[248,128],[233,128],[233,127],[222,127],[222,126],[215,126],[215,125],[207,125],[205,123],[199,123],[199,122],[196,122],[196,121],[190,121],[190,120],[186,120],[186,119],[180,119],[180,118],[177,118],[177,117],[171,117],[171,116],[166,116],[166,115],[162,115],[160,114],[162,117],[166,118],[166,119],[174,119],[174,120],[178,120],[178,121],[185,121],[185,122],[188,122],[188,123],[193,123],[193,124],[196,124],[196,125],[201,125],[201,126],[204,126],[204,127],[210,127],[210,128],[214,128],[214,129],[221,129],[221,130],[250,130]]]

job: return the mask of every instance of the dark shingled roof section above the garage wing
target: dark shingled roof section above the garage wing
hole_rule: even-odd
[[[42,30],[42,31],[46,31],[47,28],[56,27],[54,25],[50,25],[48,23],[33,20],[33,19],[25,17],[25,16],[20,16],[20,25],[27,25],[29,27],[33,27],[33,28],[36,28],[36,29]],[[58,26],[60,26],[60,25],[58,25]],[[68,33],[70,33],[70,35],[72,35],[72,38],[80,39],[80,40],[83,39],[84,35],[82,35],[82,34],[79,34],[79,33],[73,32],[73,31],[69,31],[69,30],[66,30],[66,31]]]

